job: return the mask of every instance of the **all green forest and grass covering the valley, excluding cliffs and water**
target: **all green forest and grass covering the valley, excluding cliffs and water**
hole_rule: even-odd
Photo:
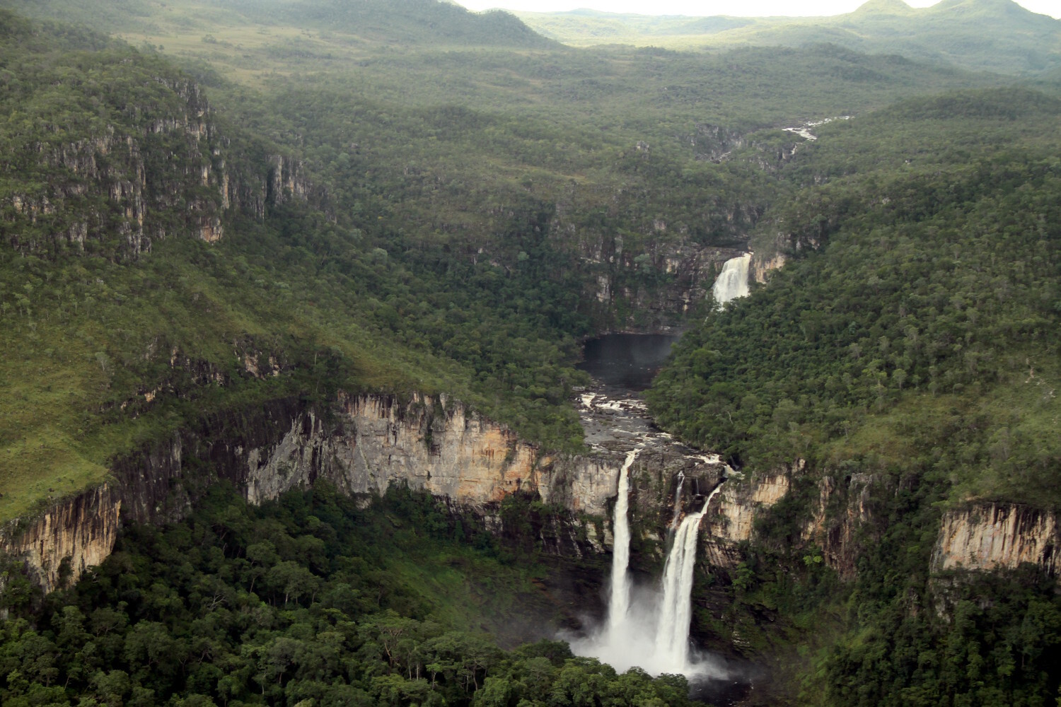
[[[737,496],[788,484],[696,567],[693,635],[753,686],[726,704],[1061,704],[1061,22],[729,19],[0,0],[3,545],[278,401],[331,430],[342,394],[459,401],[536,473],[590,459],[581,344],[681,333],[656,424]],[[745,251],[784,265],[716,307]],[[50,594],[2,558],[2,704],[702,704],[559,638],[610,517],[186,487]],[[944,568],[987,507],[1053,528],[1038,560]]]

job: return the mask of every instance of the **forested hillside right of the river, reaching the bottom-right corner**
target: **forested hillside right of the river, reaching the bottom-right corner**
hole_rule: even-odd
[[[968,570],[987,568],[977,553],[1031,540],[1032,523],[963,547],[957,569],[938,537],[944,509],[975,524],[994,503],[1061,507],[1059,111],[1054,96],[991,90],[822,127],[785,165],[796,191],[761,222],[759,247],[779,238],[785,267],[686,333],[649,393],[661,424],[745,474],[805,463],[715,600],[742,631],[772,612],[832,624],[803,654],[801,701],[1056,694],[1056,536],[1034,541],[1040,567],[989,575]],[[855,491],[838,502],[836,488]],[[850,571],[838,553],[847,585],[818,564]]]

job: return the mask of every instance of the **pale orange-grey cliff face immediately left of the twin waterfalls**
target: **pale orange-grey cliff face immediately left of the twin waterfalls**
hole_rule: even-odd
[[[538,492],[545,502],[602,515],[616,493],[611,464],[540,457],[536,446],[460,404],[342,395],[334,412],[327,425],[307,412],[279,443],[246,452],[248,501],[324,478],[349,494],[382,494],[390,483],[406,483],[480,510],[518,491]]]

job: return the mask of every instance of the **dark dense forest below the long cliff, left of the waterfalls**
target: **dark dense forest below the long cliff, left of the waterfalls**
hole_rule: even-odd
[[[358,506],[324,484],[261,508],[218,490],[185,523],[128,529],[38,611],[16,572],[0,595],[0,700],[690,704],[680,675],[619,675],[547,639],[498,647],[491,633],[511,644],[563,619],[534,547],[407,490]],[[527,523],[532,509],[514,499],[503,517]]]

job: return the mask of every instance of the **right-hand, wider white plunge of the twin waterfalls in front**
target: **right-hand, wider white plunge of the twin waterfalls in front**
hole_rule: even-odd
[[[674,545],[663,567],[663,601],[656,625],[656,660],[689,669],[689,624],[693,618],[693,567],[696,564],[696,541],[700,519],[708,512],[711,499],[721,489],[719,483],[697,513],[690,513],[681,522],[674,536]]]

